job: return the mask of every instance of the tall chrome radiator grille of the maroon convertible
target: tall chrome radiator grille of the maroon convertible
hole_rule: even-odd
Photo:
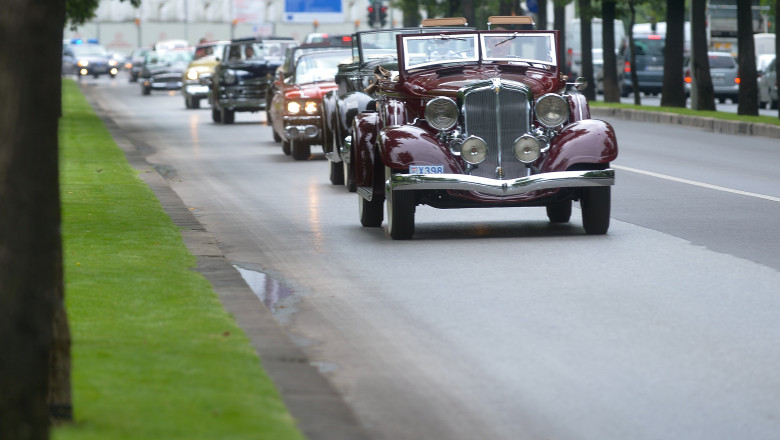
[[[496,84],[464,95],[466,134],[479,136],[488,145],[487,158],[471,174],[492,179],[522,177],[527,169],[515,157],[512,146],[515,139],[529,131],[530,92],[522,87],[496,87]]]

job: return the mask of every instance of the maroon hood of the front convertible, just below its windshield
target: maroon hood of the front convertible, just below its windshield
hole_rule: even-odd
[[[512,70],[517,69],[517,72]],[[527,69],[527,73],[520,73],[518,67],[479,66],[466,68],[439,69],[430,73],[416,74],[400,84],[406,93],[420,96],[450,96],[455,97],[460,89],[468,87],[475,82],[491,81],[500,78],[502,81],[515,81],[525,84],[531,89],[533,95],[538,97],[545,93],[558,91],[565,86],[550,72],[537,69]]]

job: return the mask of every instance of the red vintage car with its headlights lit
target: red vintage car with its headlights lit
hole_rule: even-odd
[[[312,145],[322,145],[322,96],[336,88],[338,65],[351,57],[350,49],[304,53],[274,91],[268,110],[274,138],[293,159],[306,160]]]

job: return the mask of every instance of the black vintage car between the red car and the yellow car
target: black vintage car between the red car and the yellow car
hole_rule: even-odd
[[[240,38],[224,48],[211,84],[211,117],[232,124],[235,112],[266,108],[266,92],[288,47],[298,42],[289,37]]]

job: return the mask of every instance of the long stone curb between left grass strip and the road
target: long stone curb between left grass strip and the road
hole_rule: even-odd
[[[225,258],[214,236],[200,224],[163,176],[146,161],[142,151],[153,152],[148,145],[136,145],[111,119],[108,112],[81,89],[101,118],[127,161],[154,192],[171,221],[180,229],[187,249],[197,258],[196,270],[214,288],[225,311],[251,341],[260,363],[273,381],[300,432],[309,440],[369,440],[344,398],[311,365],[257,298],[238,270]]]

